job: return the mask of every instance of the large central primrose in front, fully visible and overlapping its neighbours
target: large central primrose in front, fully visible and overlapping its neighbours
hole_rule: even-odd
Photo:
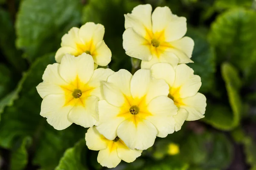
[[[129,148],[145,150],[156,136],[174,132],[177,107],[168,98],[169,86],[152,79],[150,70],[140,69],[132,76],[121,69],[103,82],[103,93],[96,128],[107,139],[118,136]]]

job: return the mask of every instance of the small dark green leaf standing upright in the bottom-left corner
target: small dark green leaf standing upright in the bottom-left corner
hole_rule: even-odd
[[[11,154],[11,170],[23,170],[28,163],[27,148],[31,145],[32,139],[27,136],[15,142]]]

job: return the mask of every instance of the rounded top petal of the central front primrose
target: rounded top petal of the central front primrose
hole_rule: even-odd
[[[140,69],[134,73],[131,79],[131,95],[134,99],[140,99],[148,92],[151,83],[150,70]]]

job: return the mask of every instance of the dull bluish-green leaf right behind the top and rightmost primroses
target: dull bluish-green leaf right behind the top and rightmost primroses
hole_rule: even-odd
[[[188,64],[193,68],[195,74],[201,77],[202,86],[200,92],[211,92],[214,87],[215,80],[215,54],[206,40],[203,31],[195,28],[188,28],[187,36],[191,37],[194,42],[194,50],[192,60],[194,63]]]

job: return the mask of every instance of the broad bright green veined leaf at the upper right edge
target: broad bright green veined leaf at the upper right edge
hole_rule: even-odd
[[[256,12],[234,8],[212,23],[209,41],[215,47],[218,62],[228,61],[242,71],[245,81],[256,78]]]

